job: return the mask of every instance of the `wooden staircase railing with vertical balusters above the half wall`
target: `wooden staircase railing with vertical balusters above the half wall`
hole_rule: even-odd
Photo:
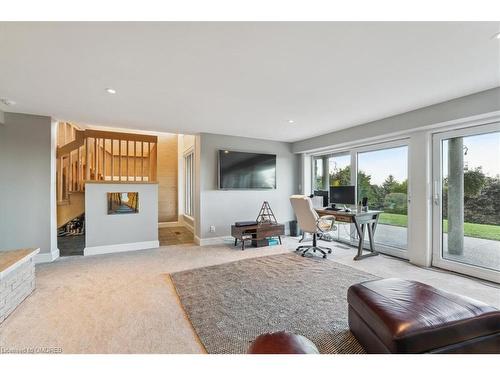
[[[88,181],[156,182],[158,137],[80,129],[60,122],[57,142],[57,201],[68,204]]]

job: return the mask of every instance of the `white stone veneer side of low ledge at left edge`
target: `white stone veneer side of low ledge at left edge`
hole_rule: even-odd
[[[0,323],[35,289],[35,263],[31,256],[0,279]]]

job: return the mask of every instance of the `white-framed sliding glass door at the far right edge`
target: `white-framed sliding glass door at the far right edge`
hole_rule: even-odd
[[[433,138],[433,264],[500,281],[500,125]]]

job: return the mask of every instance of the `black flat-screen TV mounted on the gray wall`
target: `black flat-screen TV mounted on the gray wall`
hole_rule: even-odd
[[[219,189],[276,189],[276,155],[219,150]]]

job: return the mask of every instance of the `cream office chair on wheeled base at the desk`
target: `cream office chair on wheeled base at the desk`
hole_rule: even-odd
[[[305,195],[292,195],[290,197],[290,203],[292,204],[293,210],[295,211],[295,216],[297,216],[297,221],[300,229],[313,235],[312,246],[299,246],[297,247],[296,251],[302,251],[302,256],[305,256],[306,253],[311,250],[313,252],[319,251],[321,254],[323,254],[323,258],[326,258],[326,254],[331,254],[332,249],[328,247],[318,246],[317,235],[319,233],[331,231],[335,223],[335,217],[320,217],[313,208],[311,198]]]

